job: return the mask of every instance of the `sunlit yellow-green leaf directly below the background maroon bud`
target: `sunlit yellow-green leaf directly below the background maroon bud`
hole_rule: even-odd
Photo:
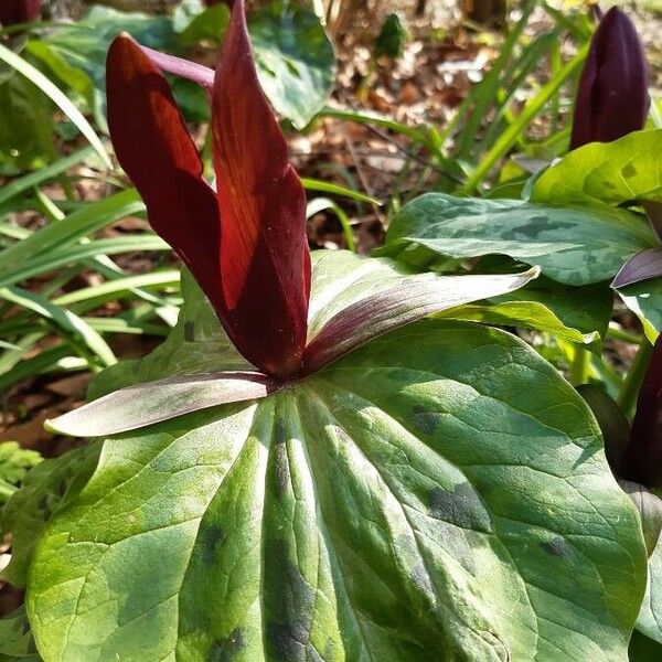
[[[591,142],[541,174],[532,202],[622,204],[662,201],[662,129]]]

